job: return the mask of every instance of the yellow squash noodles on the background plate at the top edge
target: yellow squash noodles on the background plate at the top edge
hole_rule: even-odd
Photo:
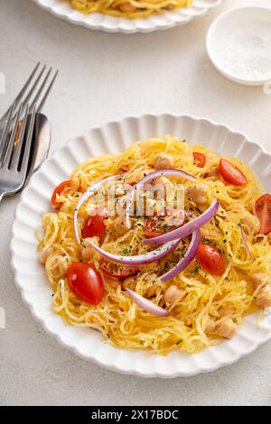
[[[177,11],[188,7],[192,0],[68,0],[83,14],[109,14],[128,19],[145,18],[151,14],[161,14],[166,10]]]

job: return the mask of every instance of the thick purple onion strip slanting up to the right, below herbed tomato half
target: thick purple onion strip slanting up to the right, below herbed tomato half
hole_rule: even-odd
[[[208,209],[203,212],[203,214],[200,215],[200,217],[194,218],[189,223],[185,224],[184,226],[180,226],[179,228],[176,228],[175,230],[166,233],[164,235],[158,235],[157,237],[147,238],[145,239],[145,244],[164,244],[171,242],[176,239],[182,239],[186,235],[190,235],[196,230],[199,230],[201,226],[206,224],[212,217],[214,217],[218,211],[218,208],[220,207],[219,200],[215,200]]]

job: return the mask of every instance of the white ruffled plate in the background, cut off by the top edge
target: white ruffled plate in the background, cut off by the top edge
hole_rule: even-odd
[[[145,19],[115,18],[107,14],[82,14],[72,8],[65,0],[33,0],[43,9],[46,9],[58,16],[66,19],[70,23],[83,25],[91,30],[102,30],[106,32],[152,32],[156,30],[166,30],[176,25],[188,23],[197,17],[201,17],[212,9],[220,5],[223,0],[194,0],[188,8],[183,8],[177,13],[164,12],[164,14],[154,14]]]

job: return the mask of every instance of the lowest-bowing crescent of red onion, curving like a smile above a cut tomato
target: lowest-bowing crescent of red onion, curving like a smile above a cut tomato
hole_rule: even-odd
[[[117,263],[124,263],[125,265],[144,265],[145,263],[153,263],[155,261],[159,261],[159,259],[164,258],[166,254],[172,253],[173,250],[176,249],[177,245],[180,243],[180,240],[173,240],[173,242],[169,242],[160,246],[158,249],[153,252],[148,252],[144,254],[135,254],[133,256],[121,256],[119,254],[107,252],[104,249],[101,249],[96,244],[92,243],[89,240],[89,244],[100,254],[105,256],[110,261],[114,261]]]

